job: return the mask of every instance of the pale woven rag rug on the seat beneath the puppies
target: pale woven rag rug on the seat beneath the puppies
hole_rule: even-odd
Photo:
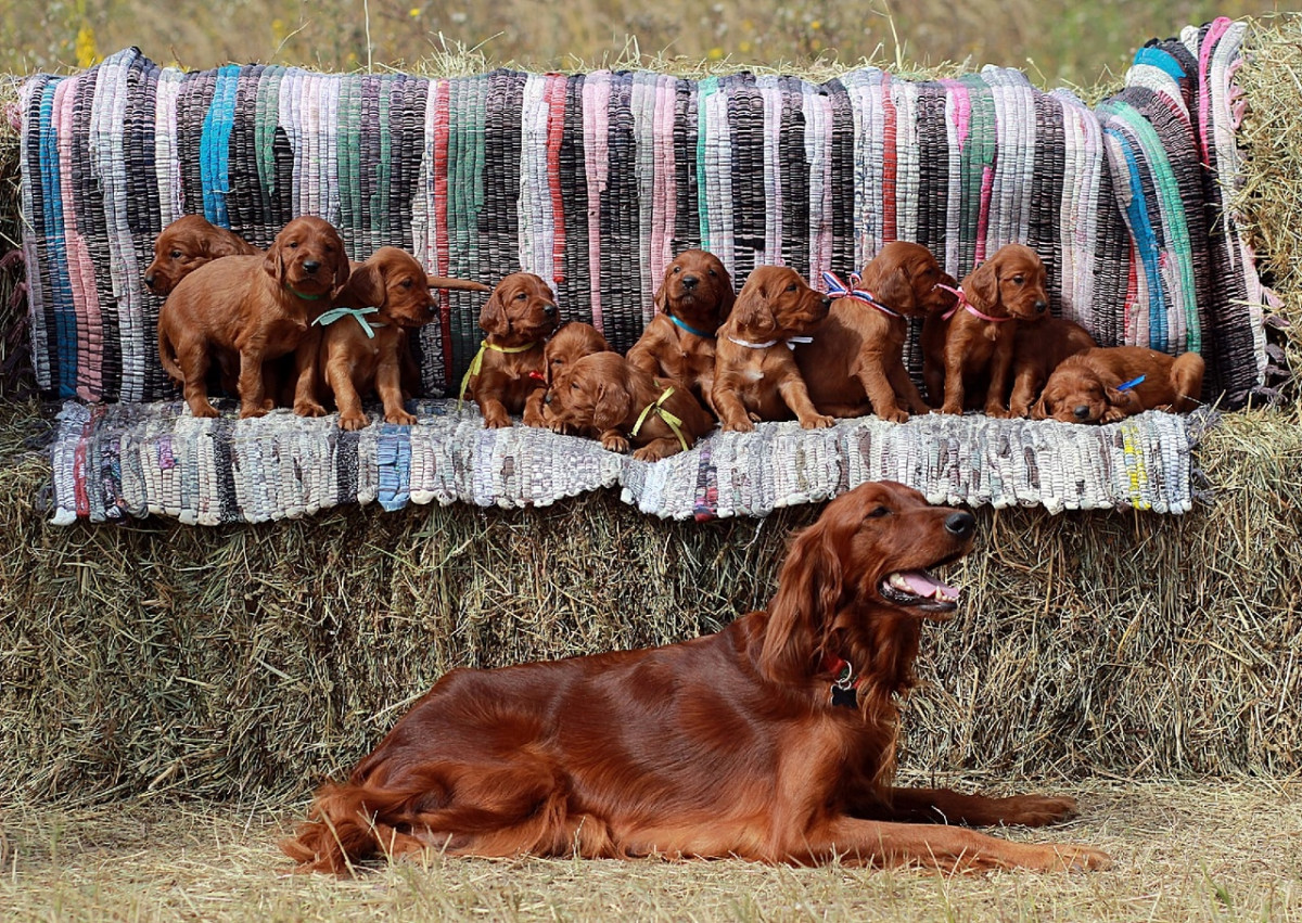
[[[794,420],[721,432],[658,462],[549,430],[487,430],[473,406],[423,401],[419,423],[277,410],[240,420],[190,417],[180,401],[85,405],[59,415],[55,522],[148,514],[186,523],[297,518],[346,503],[546,506],[618,487],[664,518],[764,516],[866,480],[900,480],[932,503],[1064,509],[1191,508],[1190,445],[1207,414],[1148,411],[1100,427],[931,414],[801,430]],[[372,417],[374,419],[374,417]]]

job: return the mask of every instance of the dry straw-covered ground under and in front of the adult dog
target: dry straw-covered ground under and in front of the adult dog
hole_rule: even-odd
[[[1069,790],[1082,819],[1004,834],[1090,842],[1112,854],[1112,870],[949,876],[738,861],[430,857],[335,880],[284,874],[275,841],[294,819],[284,807],[10,806],[0,818],[0,907],[7,920],[143,922],[1302,919],[1295,781],[1100,781]]]

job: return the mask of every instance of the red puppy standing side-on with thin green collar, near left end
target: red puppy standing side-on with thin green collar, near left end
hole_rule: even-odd
[[[182,279],[159,311],[159,359],[181,381],[190,413],[217,415],[204,375],[221,350],[240,357],[240,415],[267,413],[263,363],[298,348],[348,275],[335,227],[302,216],[276,234],[266,255],[224,256]]]

